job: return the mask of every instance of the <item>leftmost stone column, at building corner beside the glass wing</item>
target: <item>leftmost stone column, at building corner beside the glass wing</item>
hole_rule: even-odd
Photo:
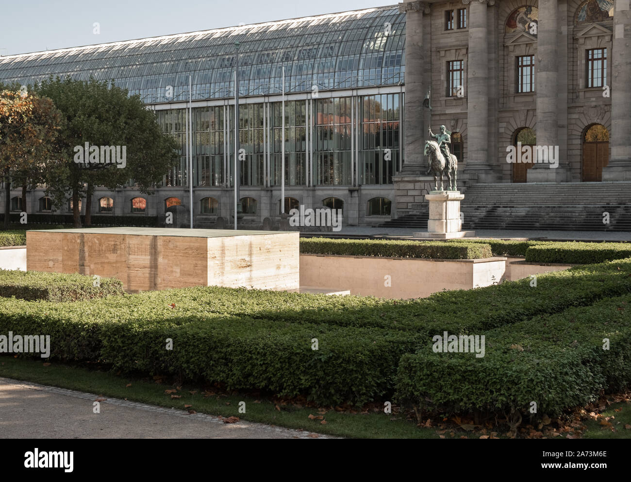
[[[402,171],[417,173],[423,165],[423,99],[427,93],[427,88],[423,85],[424,8],[420,1],[399,3],[399,11],[405,12],[405,163]]]

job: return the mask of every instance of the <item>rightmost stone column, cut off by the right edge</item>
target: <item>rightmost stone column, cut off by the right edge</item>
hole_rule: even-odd
[[[610,160],[603,181],[631,181],[631,10],[616,0],[611,40]]]

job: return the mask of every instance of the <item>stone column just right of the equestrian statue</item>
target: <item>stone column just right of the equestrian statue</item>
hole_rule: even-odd
[[[463,0],[463,4],[469,1],[466,172],[477,174],[478,182],[484,183],[495,180],[488,162],[488,0]]]

